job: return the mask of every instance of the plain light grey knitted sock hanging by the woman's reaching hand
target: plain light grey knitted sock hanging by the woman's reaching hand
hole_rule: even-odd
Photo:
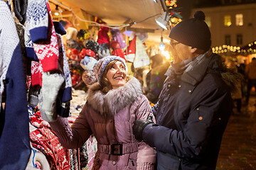
[[[42,73],[42,104],[41,104],[41,116],[43,120],[53,122],[57,120],[56,113],[56,99],[58,97],[58,91],[62,86],[65,78],[62,74],[49,74],[48,72]]]

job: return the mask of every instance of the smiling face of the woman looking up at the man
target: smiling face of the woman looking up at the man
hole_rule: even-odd
[[[107,71],[107,79],[112,85],[112,89],[117,89],[119,86],[123,86],[126,81],[127,72],[125,71],[124,64],[122,62],[115,62],[113,66]]]

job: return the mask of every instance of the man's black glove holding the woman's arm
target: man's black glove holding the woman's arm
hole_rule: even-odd
[[[154,122],[152,120],[152,116],[149,116],[146,121],[144,120],[135,120],[134,125],[132,126],[132,132],[137,140],[143,140],[142,139],[142,132],[144,128],[146,128],[147,125],[153,124]]]

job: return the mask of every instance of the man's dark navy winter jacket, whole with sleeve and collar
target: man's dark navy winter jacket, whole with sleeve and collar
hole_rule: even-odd
[[[210,53],[181,78],[166,74],[153,107],[158,125],[147,125],[142,133],[157,149],[157,169],[215,169],[233,108],[220,56]]]

